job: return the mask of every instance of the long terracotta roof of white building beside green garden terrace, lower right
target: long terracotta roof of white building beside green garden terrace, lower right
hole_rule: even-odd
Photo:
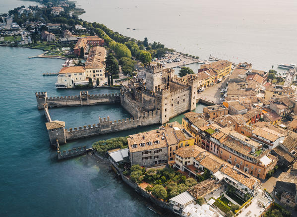
[[[232,168],[228,165],[224,165],[221,169],[221,172],[230,176],[231,178],[237,180],[239,183],[245,185],[249,189],[253,189],[254,184],[259,183],[260,181],[253,176],[244,173],[238,169]]]

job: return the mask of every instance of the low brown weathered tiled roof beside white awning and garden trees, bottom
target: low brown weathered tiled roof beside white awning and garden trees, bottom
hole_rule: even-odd
[[[216,184],[215,180],[209,178],[190,187],[187,192],[189,192],[190,195],[197,200],[198,198],[204,197],[220,187],[222,187],[221,183]]]

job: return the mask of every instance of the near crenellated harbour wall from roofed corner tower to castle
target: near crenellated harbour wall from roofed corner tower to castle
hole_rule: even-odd
[[[101,135],[106,133],[118,132],[121,130],[133,129],[139,126],[147,126],[152,124],[157,124],[160,122],[160,111],[149,111],[149,112],[140,112],[138,118],[126,118],[118,121],[110,121],[110,117],[100,118],[100,123],[69,128],[65,130],[66,140],[74,140],[85,138],[89,136]]]

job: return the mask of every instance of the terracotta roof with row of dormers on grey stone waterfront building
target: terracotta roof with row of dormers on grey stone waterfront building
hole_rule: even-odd
[[[129,138],[127,139],[129,152],[141,152],[167,147],[166,139],[163,133],[164,130],[151,130],[144,133],[129,135]],[[159,141],[159,143],[155,143],[157,141]],[[148,142],[151,142],[151,145],[148,145]],[[141,143],[144,143],[144,146],[140,146]],[[136,148],[132,147],[134,144],[136,144]]]

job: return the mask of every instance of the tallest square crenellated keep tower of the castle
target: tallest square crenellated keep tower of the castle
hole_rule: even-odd
[[[155,91],[155,87],[162,84],[163,66],[160,63],[151,62],[145,67],[146,89]]]

